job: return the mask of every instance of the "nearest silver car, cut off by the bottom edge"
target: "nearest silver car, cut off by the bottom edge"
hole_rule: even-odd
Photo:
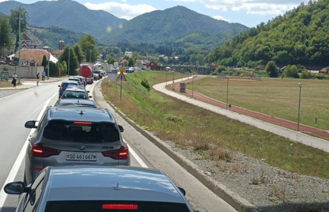
[[[17,212],[193,212],[163,172],[132,166],[49,166],[4,190],[22,194]]]

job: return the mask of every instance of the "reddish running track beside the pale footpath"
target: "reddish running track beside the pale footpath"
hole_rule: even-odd
[[[192,82],[192,79],[184,80],[183,82]],[[176,91],[179,91],[179,83],[175,83],[173,85],[173,88]],[[186,89],[186,93],[190,94],[192,96],[192,91],[191,90]],[[215,105],[215,106],[218,106],[218,107],[221,107],[221,108],[226,108],[226,103],[218,101],[218,100],[213,99],[213,98],[210,98],[209,96],[206,96],[204,94],[200,94],[200,93],[195,92],[195,91],[193,91],[193,98],[199,99],[203,102],[207,102],[209,104],[212,104],[212,105]],[[285,119],[282,119],[282,118],[269,116],[267,114],[258,113],[258,112],[255,112],[255,111],[251,111],[251,110],[241,108],[241,107],[237,107],[237,106],[233,106],[233,105],[231,106],[231,108],[229,108],[229,110],[237,112],[239,114],[249,116],[249,117],[257,118],[257,119],[264,120],[264,121],[267,121],[267,122],[270,122],[270,123],[274,123],[276,125],[284,126],[286,128],[297,131],[297,123],[293,122],[293,121],[289,121],[289,120],[285,120]],[[324,138],[326,140],[329,140],[329,131],[314,128],[314,127],[310,127],[310,126],[303,125],[303,124],[299,125],[299,129],[300,129],[300,132],[302,132],[302,133],[308,133],[308,134],[311,134],[311,135],[316,135],[316,136],[319,136],[319,137]]]

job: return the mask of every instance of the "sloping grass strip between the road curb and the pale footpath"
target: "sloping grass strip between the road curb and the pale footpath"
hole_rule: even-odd
[[[114,104],[143,129],[154,132],[162,140],[173,141],[181,148],[194,151],[204,159],[234,163],[234,157],[227,152],[227,149],[231,149],[257,159],[265,159],[266,163],[288,171],[329,178],[327,152],[220,116],[153,89],[148,91],[140,83],[145,79],[152,87],[154,84],[164,82],[167,77],[164,72],[158,71],[128,74],[128,81],[122,83],[121,100],[120,83],[110,82],[108,85],[104,81],[102,91],[107,101]],[[180,77],[180,74],[174,75],[174,78]],[[206,81],[199,82],[202,86]],[[250,84],[245,86],[249,87]],[[265,106],[271,107],[268,104],[264,104]],[[220,167],[218,168],[220,170]]]

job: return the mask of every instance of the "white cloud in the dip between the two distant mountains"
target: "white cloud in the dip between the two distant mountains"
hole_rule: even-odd
[[[143,13],[157,10],[156,8],[148,4],[130,5],[127,3],[118,3],[113,1],[99,4],[87,2],[84,4],[84,6],[91,10],[104,10],[118,18],[127,20],[133,19],[134,17]]]

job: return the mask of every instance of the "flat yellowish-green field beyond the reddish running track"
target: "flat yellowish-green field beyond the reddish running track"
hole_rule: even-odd
[[[329,130],[328,80],[281,78],[263,78],[262,81],[229,80],[228,103],[297,122],[299,82],[302,82],[300,123]],[[187,85],[187,89],[192,90],[192,83]],[[227,80],[204,77],[194,82],[193,90],[226,102]]]

